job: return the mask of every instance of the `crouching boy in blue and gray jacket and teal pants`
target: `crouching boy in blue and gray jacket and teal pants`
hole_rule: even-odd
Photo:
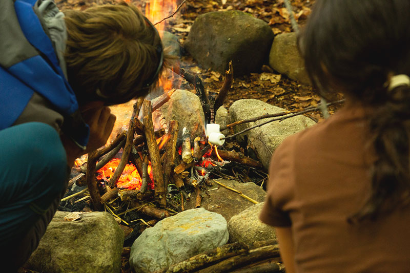
[[[108,106],[144,97],[169,60],[134,6],[60,12],[51,0],[0,2],[2,268],[30,257],[75,158],[103,146]]]

